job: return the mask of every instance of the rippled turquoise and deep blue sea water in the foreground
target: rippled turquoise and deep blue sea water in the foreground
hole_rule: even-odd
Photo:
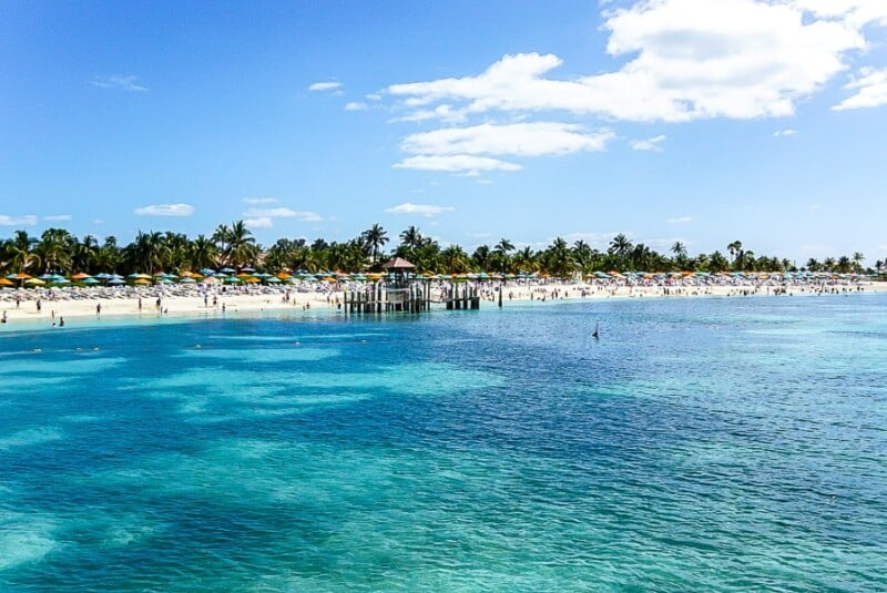
[[[887,590],[884,295],[83,323],[0,334],[2,591]]]

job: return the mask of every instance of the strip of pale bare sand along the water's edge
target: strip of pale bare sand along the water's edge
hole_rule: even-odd
[[[609,298],[704,298],[726,296],[774,296],[782,287],[769,285],[712,285],[712,286],[628,286],[601,284],[506,284],[502,300],[516,301],[575,301]],[[785,287],[792,296],[815,294],[858,294],[887,292],[887,282],[864,282],[846,285],[795,284]],[[498,293],[495,285],[481,288],[481,307],[496,306]],[[151,317],[173,315],[203,318],[236,313],[283,313],[316,309],[336,309],[344,290],[286,290],[262,292],[167,292],[152,288],[125,292],[83,289],[53,294],[39,290],[6,292],[0,299],[0,315],[6,315],[10,326],[21,321],[60,324],[62,318],[83,317]],[[18,304],[16,299],[18,298]],[[160,306],[157,306],[160,298]],[[38,307],[39,301],[39,307]],[[442,305],[439,305],[442,308]],[[434,307],[432,307],[434,308]]]

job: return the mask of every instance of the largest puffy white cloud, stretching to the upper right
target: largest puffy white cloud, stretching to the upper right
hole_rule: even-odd
[[[876,2],[847,0],[640,0],[604,11],[606,51],[621,68],[572,80],[548,74],[553,54],[504,55],[476,76],[394,84],[415,114],[438,103],[469,114],[563,110],[626,121],[785,116],[865,50],[863,27],[884,22]],[[884,2],[877,0],[881,6]],[[815,7],[814,7],[815,4]],[[814,10],[816,8],[817,10]]]

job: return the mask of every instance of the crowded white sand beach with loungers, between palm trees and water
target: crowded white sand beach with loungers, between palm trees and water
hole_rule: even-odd
[[[217,286],[145,286],[86,288],[17,288],[0,292],[0,315],[6,323],[45,321],[83,317],[188,316],[206,317],[223,314],[261,311],[299,311],[335,309],[346,293],[367,289],[366,284],[305,283],[304,285],[224,287]],[[498,282],[476,283],[482,306],[498,305]],[[434,283],[431,298],[439,301],[449,285]],[[704,297],[774,297],[809,295],[846,295],[887,292],[887,282],[873,280],[748,280],[727,282],[631,282],[628,279],[562,282],[507,282],[501,284],[502,303],[593,300],[620,298],[704,298]],[[39,303],[39,306],[38,306]],[[442,305],[440,305],[442,306]],[[434,308],[434,307],[432,307]]]

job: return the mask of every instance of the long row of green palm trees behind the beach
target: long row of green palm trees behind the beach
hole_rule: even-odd
[[[390,243],[388,233],[374,224],[346,242],[317,238],[308,243],[303,238],[281,238],[263,247],[243,221],[218,225],[212,235],[201,234],[195,238],[182,233],[140,231],[128,245],[120,245],[113,236],[105,237],[102,243],[93,235],[78,238],[63,228],[48,228],[40,237],[29,235],[27,231],[17,231],[0,242],[0,273],[182,273],[222,267],[254,267],[269,272],[367,272],[380,269],[381,264],[391,256],[408,259],[419,272],[538,272],[557,277],[610,270],[880,274],[887,267],[885,262],[878,260],[874,270],[864,269],[865,257],[856,252],[852,256],[828,257],[822,262],[810,258],[798,268],[785,258],[757,255],[740,241],[726,245],[726,253],[714,251],[691,256],[683,243],[675,242],[669,254],[662,254],[643,243],[632,242],[621,233],[613,237],[605,251],[593,248],[581,239],[569,244],[561,237],[542,249],[529,246],[517,248],[509,239],[502,238],[495,245],[480,245],[471,254],[459,245],[441,247],[434,238],[422,235],[416,226],[406,228],[397,238],[399,242],[392,244],[390,252],[386,252],[385,247]]]

